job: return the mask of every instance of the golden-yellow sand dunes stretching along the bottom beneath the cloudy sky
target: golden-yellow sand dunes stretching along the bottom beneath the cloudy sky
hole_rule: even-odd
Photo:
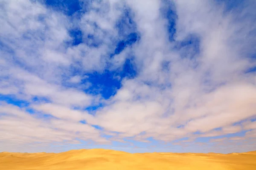
[[[247,153],[125,153],[70,150],[63,153],[0,153],[0,170],[256,170]]]

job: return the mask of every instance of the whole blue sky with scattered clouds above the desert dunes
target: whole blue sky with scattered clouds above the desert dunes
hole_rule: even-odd
[[[255,0],[1,0],[0,152],[256,150]]]

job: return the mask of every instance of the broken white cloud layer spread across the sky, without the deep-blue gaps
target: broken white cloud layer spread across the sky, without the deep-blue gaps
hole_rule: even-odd
[[[169,41],[168,21],[161,10],[166,4],[160,0],[93,2],[76,20],[41,3],[2,1],[0,94],[26,100],[35,111],[55,118],[45,120],[17,106],[1,104],[0,140],[14,144],[79,143],[76,139],[108,143],[102,137],[105,134],[119,142],[125,137],[143,142],[148,137],[166,142],[189,137],[192,142],[197,137],[242,130],[250,131],[241,138],[211,142],[255,138],[255,122],[247,120],[256,116],[256,76],[244,74],[256,64],[248,58],[256,43],[251,7],[255,3],[245,2],[238,11],[226,13],[213,1],[172,3],[177,13],[174,42]],[[124,8],[131,8],[140,40],[109,58],[120,38],[115,24]],[[76,27],[83,40],[91,34],[100,45],[67,45],[72,41],[69,30]],[[198,51],[192,46],[175,48],[175,43],[191,35],[199,41]],[[110,63],[112,70],[122,68],[130,53],[137,76],[122,79],[115,96],[101,100],[101,96],[86,94],[80,88],[81,81],[88,78],[84,74],[103,73]],[[169,63],[166,69],[163,63]],[[35,96],[49,101],[33,102]],[[105,105],[95,116],[73,109],[99,100]],[[244,121],[241,126],[233,125],[240,121]],[[198,131],[202,134],[195,134]]]

